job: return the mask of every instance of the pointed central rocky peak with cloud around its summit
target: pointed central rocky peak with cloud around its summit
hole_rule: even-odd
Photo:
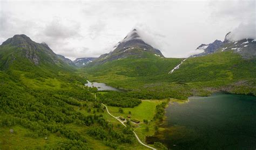
[[[159,51],[159,49],[147,44],[140,36],[139,32],[134,28],[122,41],[119,41],[113,47],[112,52],[100,55],[99,58],[91,64],[100,64],[107,61],[128,58],[130,56],[145,58],[146,53],[164,58],[164,55]]]

